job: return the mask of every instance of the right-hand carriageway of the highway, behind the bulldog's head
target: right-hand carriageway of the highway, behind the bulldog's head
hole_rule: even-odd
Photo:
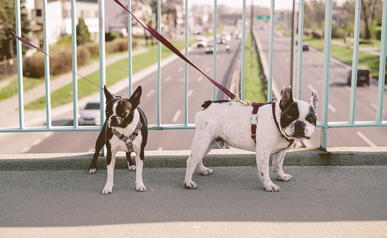
[[[256,24],[255,30],[262,44],[263,52],[268,60],[269,28],[267,25]],[[277,90],[281,90],[284,84],[290,83],[290,47],[291,38],[285,36],[274,37],[273,53],[273,81]],[[296,53],[295,53],[296,59]],[[296,65],[296,61],[294,61]],[[347,85],[347,74],[350,66],[338,60],[331,59],[329,78],[329,112],[328,121],[349,121],[350,115],[350,90]],[[294,75],[296,70],[294,69]],[[294,78],[295,80],[295,78]],[[323,91],[323,53],[313,48],[303,52],[302,60],[302,100],[308,101],[313,89],[319,93],[321,102]],[[376,105],[378,99],[378,85],[374,80],[369,87],[358,86],[356,88],[356,121],[375,121]],[[294,92],[293,92],[294,93]],[[295,96],[295,95],[294,95]],[[384,111],[387,112],[387,93],[384,92]],[[321,103],[318,106],[321,120]],[[386,113],[383,120],[387,120]],[[308,146],[320,146],[321,129],[315,129],[315,134],[307,143]],[[352,127],[333,128],[328,130],[327,146],[387,146],[387,127]]]

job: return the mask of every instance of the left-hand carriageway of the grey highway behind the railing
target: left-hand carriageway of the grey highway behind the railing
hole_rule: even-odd
[[[216,80],[223,85],[230,81],[233,65],[235,64],[241,40],[232,39],[231,49],[227,52],[223,44],[218,44]],[[206,54],[204,48],[195,48],[189,53],[189,59],[204,73],[213,77],[213,55]],[[185,62],[176,59],[161,69],[161,124],[184,124],[185,108]],[[201,104],[212,100],[213,86],[201,73],[189,66],[188,89],[188,123],[194,123],[196,112],[200,111]],[[107,79],[108,80],[108,79]],[[138,81],[138,80],[137,80]],[[149,124],[157,124],[157,72],[134,83],[142,86],[140,108],[145,112]],[[128,95],[127,85],[122,90],[113,92],[117,95]],[[225,96],[217,90],[216,99]],[[96,98],[95,100],[98,100]],[[72,125],[72,114],[62,115],[53,120],[53,125]],[[35,133],[35,132],[33,132]],[[39,132],[43,138],[33,145],[26,146],[23,153],[65,153],[94,151],[94,143],[99,132]],[[26,135],[27,136],[27,135]],[[33,136],[33,135],[30,135]],[[188,150],[194,137],[193,129],[186,130],[150,130],[146,150]],[[28,143],[28,141],[26,141]]]

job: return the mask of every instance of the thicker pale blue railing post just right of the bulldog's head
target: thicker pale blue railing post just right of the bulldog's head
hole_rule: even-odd
[[[323,103],[321,123],[323,129],[320,137],[320,147],[326,150],[327,147],[327,121],[329,112],[329,76],[330,76],[330,46],[332,34],[332,0],[325,2],[325,29],[324,29],[324,62],[323,62]]]

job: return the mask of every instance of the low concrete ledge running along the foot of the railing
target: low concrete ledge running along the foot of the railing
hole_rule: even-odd
[[[144,167],[186,167],[190,151],[146,151]],[[0,155],[0,171],[87,170],[92,153]],[[134,159],[134,157],[132,156]],[[255,153],[238,149],[212,150],[205,158],[208,167],[256,166]],[[363,166],[387,165],[387,147],[294,148],[285,157],[284,166]],[[126,169],[125,153],[118,153],[116,169]],[[98,170],[106,170],[99,157]]]

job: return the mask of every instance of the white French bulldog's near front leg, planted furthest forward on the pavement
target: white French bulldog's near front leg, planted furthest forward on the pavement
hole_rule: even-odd
[[[263,187],[266,191],[281,191],[281,188],[270,179],[269,156],[269,152],[257,152],[258,178],[263,182]]]

